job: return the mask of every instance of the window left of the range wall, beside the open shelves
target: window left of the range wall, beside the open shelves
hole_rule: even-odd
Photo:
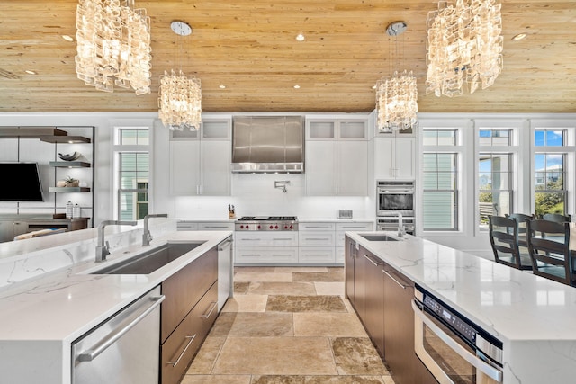
[[[149,130],[118,128],[115,147],[117,216],[144,219],[148,214]]]

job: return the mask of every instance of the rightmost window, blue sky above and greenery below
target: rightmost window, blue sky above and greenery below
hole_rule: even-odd
[[[566,214],[566,131],[536,129],[534,135],[534,205],[536,217]],[[542,150],[542,152],[540,152]]]

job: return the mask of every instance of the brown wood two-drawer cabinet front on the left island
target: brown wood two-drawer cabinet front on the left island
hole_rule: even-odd
[[[178,383],[218,316],[218,251],[200,256],[162,283],[160,379]]]

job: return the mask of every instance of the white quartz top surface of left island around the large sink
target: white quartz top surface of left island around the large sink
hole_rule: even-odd
[[[0,292],[0,340],[71,342],[229,237],[229,231],[171,232],[129,246],[107,261],[76,263]],[[89,274],[166,242],[205,241],[150,274]]]

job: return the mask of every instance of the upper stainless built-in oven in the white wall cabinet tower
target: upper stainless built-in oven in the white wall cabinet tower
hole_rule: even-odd
[[[378,180],[376,216],[414,217],[414,180]]]

